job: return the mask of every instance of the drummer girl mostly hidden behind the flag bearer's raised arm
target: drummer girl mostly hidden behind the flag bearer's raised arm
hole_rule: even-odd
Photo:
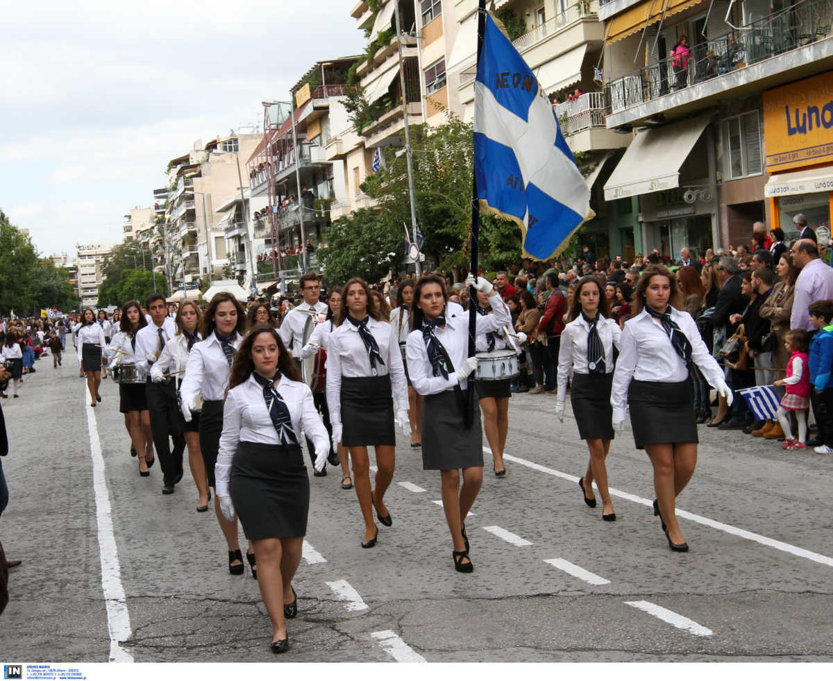
[[[509,316],[511,326],[511,313],[506,303],[501,301],[500,296],[495,299],[495,304],[506,307],[506,315]],[[475,309],[480,316],[486,316],[493,312],[491,299],[482,291],[477,291]],[[526,341],[526,334],[519,334],[518,343]],[[502,329],[497,331],[486,331],[477,334],[477,352],[492,352],[493,350],[506,350],[510,347],[506,332]],[[480,409],[483,412],[483,430],[486,430],[486,440],[489,442],[494,463],[492,470],[498,478],[506,475],[506,466],[503,464],[503,449],[506,447],[506,434],[509,431],[509,398],[511,392],[511,378],[502,380],[475,380],[474,390],[477,400],[480,402]]]

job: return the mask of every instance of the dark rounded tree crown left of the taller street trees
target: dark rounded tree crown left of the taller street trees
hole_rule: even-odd
[[[404,236],[401,227],[369,208],[333,222],[327,227],[327,247],[317,251],[327,283],[341,286],[352,276],[379,281],[402,260]]]

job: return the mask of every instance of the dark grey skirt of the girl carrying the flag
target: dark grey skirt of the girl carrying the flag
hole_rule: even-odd
[[[480,410],[475,408],[474,421],[466,429],[454,390],[426,395],[422,400],[422,469],[456,470],[482,465]]]

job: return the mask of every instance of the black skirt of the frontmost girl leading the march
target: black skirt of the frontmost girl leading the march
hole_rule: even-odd
[[[239,443],[229,491],[247,539],[307,534],[310,481],[300,445]]]

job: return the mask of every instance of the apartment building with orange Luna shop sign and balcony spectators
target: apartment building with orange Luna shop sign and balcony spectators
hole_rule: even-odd
[[[830,224],[831,0],[601,0],[606,126],[636,131],[605,182],[638,197],[646,249]],[[686,37],[686,57],[671,51]]]

